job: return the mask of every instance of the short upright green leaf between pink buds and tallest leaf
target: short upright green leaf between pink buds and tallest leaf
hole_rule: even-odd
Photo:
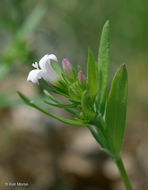
[[[98,91],[96,63],[92,51],[90,49],[88,50],[87,76],[88,76],[88,95],[91,97],[95,97]]]

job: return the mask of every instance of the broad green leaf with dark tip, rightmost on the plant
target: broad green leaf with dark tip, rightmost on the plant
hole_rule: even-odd
[[[106,134],[111,152],[119,154],[126,121],[128,76],[125,65],[116,72],[106,107]]]

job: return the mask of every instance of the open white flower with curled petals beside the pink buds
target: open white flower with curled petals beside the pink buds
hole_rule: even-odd
[[[53,54],[44,55],[39,61],[33,63],[32,66],[35,68],[34,70],[30,71],[28,74],[27,81],[39,84],[38,80],[43,78],[47,82],[54,83],[59,78],[58,74],[52,68],[51,60],[58,61],[57,57]],[[39,68],[40,67],[40,68]]]

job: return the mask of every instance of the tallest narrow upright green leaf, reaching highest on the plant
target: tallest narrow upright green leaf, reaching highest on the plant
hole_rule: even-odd
[[[109,21],[104,24],[99,54],[98,54],[98,97],[97,97],[97,105],[102,113],[104,114],[105,103],[106,103],[106,95],[108,88],[108,72],[109,72]]]

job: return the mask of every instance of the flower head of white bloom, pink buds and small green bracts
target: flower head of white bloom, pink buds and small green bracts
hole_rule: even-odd
[[[29,72],[27,81],[38,85],[44,83],[44,92],[50,99],[45,100],[45,103],[66,109],[76,116],[77,121],[87,120],[88,122],[90,115],[94,120],[96,116],[92,102],[94,100],[88,96],[88,80],[80,66],[76,72],[70,61],[63,58],[61,67],[54,54],[44,55],[39,64],[35,62],[32,66],[35,69]],[[49,89],[48,92],[47,89]],[[60,103],[51,95],[53,92],[65,96],[70,103]]]

